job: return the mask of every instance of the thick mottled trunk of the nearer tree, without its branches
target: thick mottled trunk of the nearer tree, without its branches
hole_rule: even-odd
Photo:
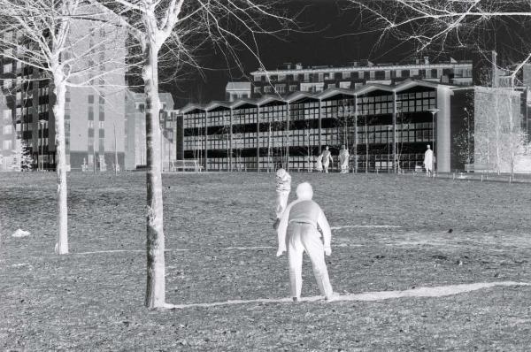
[[[143,80],[146,95],[146,149],[147,149],[147,286],[145,305],[148,308],[165,306],[165,238],[162,203],[162,174],[160,170],[160,128],[158,114],[158,48],[148,43],[145,48],[146,64]]]

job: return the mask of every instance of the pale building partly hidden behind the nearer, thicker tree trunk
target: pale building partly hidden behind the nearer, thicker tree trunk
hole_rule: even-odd
[[[162,104],[160,111],[160,126],[162,128],[162,160],[163,169],[166,170],[169,161],[176,158],[174,141],[175,122],[173,120],[173,97],[169,93],[159,93]],[[126,160],[127,170],[135,170],[139,166],[147,165],[146,160],[146,97],[143,93],[127,90],[126,102]]]

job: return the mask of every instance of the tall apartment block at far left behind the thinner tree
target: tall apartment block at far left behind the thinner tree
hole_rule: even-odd
[[[72,50],[88,54],[73,63],[73,70],[84,69],[85,77],[78,76],[73,83],[79,83],[79,87],[68,88],[65,94],[67,167],[104,170],[106,165],[115,163],[116,157],[119,165],[123,166],[126,35],[117,33],[115,28],[95,29],[89,21],[80,20],[75,24],[72,37],[67,41],[76,43]],[[73,55],[65,51],[64,58]],[[0,80],[5,96],[5,103],[0,106],[4,125],[0,146],[4,149],[3,153],[16,148],[18,143],[24,143],[33,155],[35,167],[54,170],[57,160],[52,108],[56,97],[51,80],[42,70],[7,57],[2,59],[1,70]],[[89,76],[94,80],[87,80]],[[88,86],[88,81],[93,84]],[[15,131],[17,143],[13,140],[9,142],[9,138],[5,137],[12,136],[11,130]]]

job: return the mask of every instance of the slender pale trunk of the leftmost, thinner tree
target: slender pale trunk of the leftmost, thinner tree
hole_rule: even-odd
[[[58,172],[58,242],[57,254],[68,253],[68,206],[66,203],[66,153],[65,153],[65,92],[66,86],[61,73],[54,74],[54,94],[56,103],[53,105],[56,127],[56,165]]]

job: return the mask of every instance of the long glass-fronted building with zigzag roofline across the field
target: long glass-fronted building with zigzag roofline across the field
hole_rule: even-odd
[[[189,104],[178,119],[178,158],[199,160],[214,171],[312,169],[325,145],[335,157],[345,145],[352,169],[414,169],[431,144],[439,172],[462,169],[452,136],[466,124],[468,90],[404,80]]]

